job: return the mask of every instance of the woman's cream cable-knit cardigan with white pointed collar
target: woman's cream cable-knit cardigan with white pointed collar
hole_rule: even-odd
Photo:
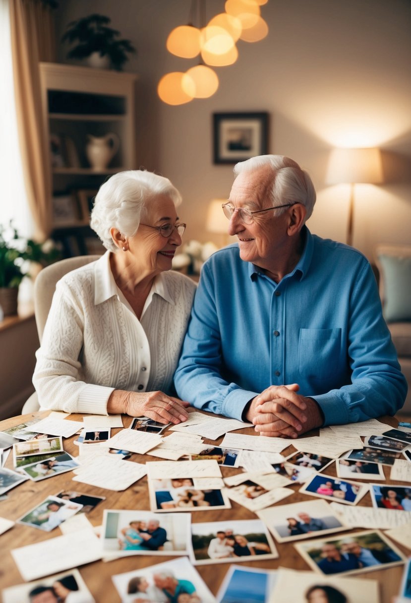
[[[194,292],[186,276],[159,274],[139,321],[116,287],[109,252],[66,274],[36,353],[40,407],[107,414],[115,389],[172,391]]]

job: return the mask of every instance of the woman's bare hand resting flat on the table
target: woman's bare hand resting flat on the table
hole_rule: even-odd
[[[148,417],[158,423],[182,423],[189,415],[184,402],[162,391],[123,391],[115,390],[107,402],[107,412],[123,412],[131,417]]]

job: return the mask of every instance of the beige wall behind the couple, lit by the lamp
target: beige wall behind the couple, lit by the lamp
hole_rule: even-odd
[[[268,37],[240,42],[237,63],[216,70],[218,92],[180,107],[163,104],[155,89],[166,72],[196,64],[165,49],[169,31],[187,22],[189,0],[60,5],[57,39],[67,22],[98,12],[137,46],[126,65],[140,74],[137,166],[162,172],[180,188],[186,240],[213,239],[204,231],[207,203],[227,197],[233,179],[231,166],[212,163],[212,113],[260,110],[270,115],[269,152],[292,157],[313,178],[313,232],[345,240],[348,188],[325,184],[331,148],[375,145],[385,151],[391,182],[357,187],[354,245],[371,257],[377,242],[411,244],[409,0],[269,0],[262,7]],[[206,5],[208,17],[224,10],[223,0]]]

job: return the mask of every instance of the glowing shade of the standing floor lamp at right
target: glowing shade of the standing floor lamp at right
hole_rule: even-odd
[[[384,181],[378,148],[334,149],[328,162],[327,183],[369,183]]]

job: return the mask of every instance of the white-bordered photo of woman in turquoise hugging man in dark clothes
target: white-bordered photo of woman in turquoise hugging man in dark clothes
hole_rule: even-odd
[[[187,555],[190,514],[168,513],[158,517],[150,511],[104,510],[101,543],[105,554]]]

